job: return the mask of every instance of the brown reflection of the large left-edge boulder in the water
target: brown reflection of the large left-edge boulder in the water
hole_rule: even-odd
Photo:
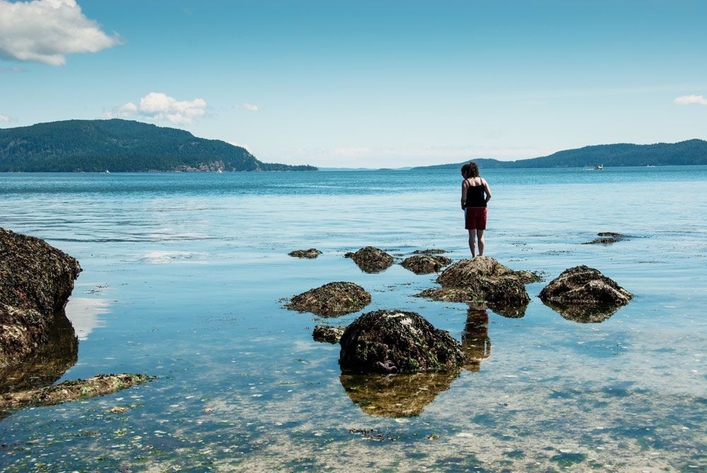
[[[78,338],[64,310],[54,314],[49,340],[22,363],[0,370],[0,394],[30,390],[54,383],[78,359]]]

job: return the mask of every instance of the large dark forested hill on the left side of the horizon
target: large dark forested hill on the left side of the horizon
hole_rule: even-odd
[[[132,120],[67,120],[0,129],[0,172],[300,171],[245,148]]]

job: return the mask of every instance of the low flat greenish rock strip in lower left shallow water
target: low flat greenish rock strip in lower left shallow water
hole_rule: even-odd
[[[86,397],[103,396],[151,379],[153,379],[151,376],[123,373],[96,375],[86,380],[64,381],[58,385],[0,395],[0,410],[6,411],[30,405],[51,406]]]

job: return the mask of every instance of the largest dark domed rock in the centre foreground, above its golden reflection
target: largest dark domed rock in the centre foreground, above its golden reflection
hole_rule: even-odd
[[[361,315],[339,340],[341,369],[352,373],[450,371],[466,358],[459,342],[421,315],[377,310]]]

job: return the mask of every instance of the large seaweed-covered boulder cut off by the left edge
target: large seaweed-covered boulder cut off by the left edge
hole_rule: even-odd
[[[66,305],[79,272],[66,253],[0,228],[0,367],[47,344],[54,314]]]

